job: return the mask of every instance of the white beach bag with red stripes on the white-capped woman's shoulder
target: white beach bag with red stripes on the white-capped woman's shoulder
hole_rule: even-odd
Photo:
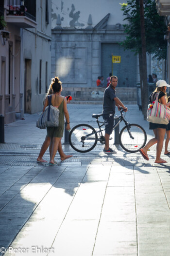
[[[159,93],[152,104],[148,105],[147,121],[152,123],[168,124],[170,122],[170,108],[158,102]]]

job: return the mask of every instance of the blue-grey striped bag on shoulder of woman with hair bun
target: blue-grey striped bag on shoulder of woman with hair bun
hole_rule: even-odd
[[[49,105],[45,108],[44,113],[41,113],[40,117],[36,121],[36,127],[45,129],[46,127],[58,127],[59,125],[59,114],[58,108],[51,105],[52,96],[48,96]]]

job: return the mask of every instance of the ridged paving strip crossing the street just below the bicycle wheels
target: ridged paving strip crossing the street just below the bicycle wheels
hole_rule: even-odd
[[[6,154],[5,154],[6,153]],[[70,152],[66,152],[66,154],[71,154]],[[126,154],[126,153],[125,153]],[[12,166],[47,166],[48,163],[37,163],[36,158],[38,154],[35,152],[0,152],[0,165],[12,165]],[[46,153],[44,159],[50,161],[49,153]],[[106,163],[113,163],[118,162],[122,163],[122,165],[126,165],[127,163],[136,163],[137,161],[143,161],[143,158],[139,154],[129,154],[127,153],[124,156],[124,152],[117,151],[117,154],[113,155],[106,155],[104,153],[95,152],[93,154],[90,153],[73,153],[72,158],[68,158],[65,161],[61,161],[60,158],[57,156],[55,158],[57,160],[57,165],[70,165],[70,164],[77,164],[78,162],[80,165],[83,164],[106,164]]]

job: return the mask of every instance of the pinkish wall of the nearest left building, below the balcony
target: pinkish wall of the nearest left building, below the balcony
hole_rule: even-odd
[[[19,112],[19,73],[20,73],[20,29],[13,24],[7,24],[6,31],[10,31],[9,39],[3,39],[0,35],[0,95],[2,100],[0,102],[1,114],[5,116],[5,123],[13,122],[15,120],[15,113],[11,116],[6,116],[8,112]],[[10,103],[5,108],[5,95],[9,94],[9,43],[11,47],[11,72],[10,72]],[[5,62],[3,61],[5,60]],[[16,71],[15,67],[18,65]],[[15,96],[12,96],[15,95]],[[13,100],[16,104],[13,105]],[[12,110],[9,110],[12,107]]]

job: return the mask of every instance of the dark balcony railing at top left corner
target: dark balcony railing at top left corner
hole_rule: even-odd
[[[6,14],[26,16],[36,21],[36,0],[8,0]]]

